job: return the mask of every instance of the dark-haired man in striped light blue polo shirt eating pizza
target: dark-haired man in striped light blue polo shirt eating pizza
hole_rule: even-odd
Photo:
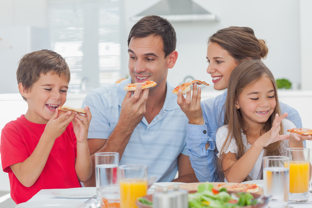
[[[129,79],[90,91],[82,104],[92,113],[88,145],[90,154],[119,152],[120,165],[147,165],[148,177],[156,175],[158,182],[198,182],[186,146],[188,119],[166,81],[178,58],[175,47],[176,33],[161,17],[144,17],[132,27]],[[124,91],[128,83],[145,80],[157,85]],[[94,173],[85,186],[95,186]]]

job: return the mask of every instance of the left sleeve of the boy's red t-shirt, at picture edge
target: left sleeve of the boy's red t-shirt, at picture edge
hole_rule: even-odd
[[[10,165],[24,162],[30,156],[20,134],[7,126],[1,132],[0,153],[2,170],[7,173],[12,172]]]

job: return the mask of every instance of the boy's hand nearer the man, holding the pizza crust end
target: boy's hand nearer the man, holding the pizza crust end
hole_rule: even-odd
[[[79,143],[87,142],[88,129],[92,117],[89,106],[85,107],[85,112],[84,116],[76,114],[75,119],[72,120],[76,139]]]

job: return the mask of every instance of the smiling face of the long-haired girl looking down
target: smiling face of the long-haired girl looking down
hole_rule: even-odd
[[[236,101],[242,118],[248,124],[266,122],[276,106],[275,90],[272,81],[263,76],[260,80],[243,89]]]

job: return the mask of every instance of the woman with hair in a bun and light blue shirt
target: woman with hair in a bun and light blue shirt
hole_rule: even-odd
[[[213,88],[227,89],[232,70],[244,60],[265,59],[268,48],[264,40],[258,40],[254,31],[249,27],[227,27],[217,31],[208,39],[207,73],[211,75]],[[178,92],[178,104],[189,119],[188,124],[188,153],[192,167],[200,182],[219,181],[217,173],[217,149],[215,133],[224,124],[223,105],[227,90],[216,98],[200,102],[200,87],[193,85],[184,98],[182,90]],[[282,113],[287,112],[287,119],[297,128],[302,128],[298,112],[280,102]],[[305,144],[305,143],[304,143]]]

